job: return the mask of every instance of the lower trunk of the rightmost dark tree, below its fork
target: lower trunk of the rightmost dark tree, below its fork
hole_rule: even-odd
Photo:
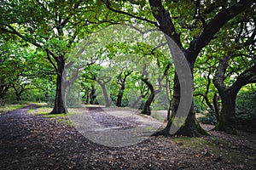
[[[222,108],[216,130],[236,134],[236,92],[227,90],[220,94]]]

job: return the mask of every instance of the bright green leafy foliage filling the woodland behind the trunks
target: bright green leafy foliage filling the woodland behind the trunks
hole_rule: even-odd
[[[169,23],[166,20],[161,22],[155,17],[154,14],[160,13],[160,6],[159,8],[150,7],[155,2],[162,3],[162,7],[166,10],[160,18],[168,16],[169,18],[166,19],[170,19]],[[76,88],[82,93],[79,90],[68,92],[68,106],[79,106],[79,99],[94,94],[95,90],[98,101],[104,100],[103,93],[100,91],[103,86],[96,81],[104,82],[104,87],[108,88],[108,97],[116,103],[121,89],[120,79],[124,78],[125,71],[132,70],[131,75],[125,79],[122,106],[129,105],[131,101],[133,103],[140,101],[138,103],[141,103],[142,109],[150,96],[150,90],[143,79],[151,77],[152,79],[148,82],[160,84],[160,74],[152,68],[157,65],[162,74],[166,65],[172,65],[172,59],[167,55],[169,54],[167,48],[164,48],[166,54],[155,48],[159,44],[154,42],[157,43],[160,37],[149,38],[148,42],[152,42],[149,45],[143,41],[134,42],[134,37],[138,37],[140,31],[145,30],[128,31],[120,28],[122,34],[118,35],[118,42],[114,43],[111,41],[109,43],[113,38],[113,30],[105,32],[103,36],[90,34],[103,27],[125,22],[131,27],[156,26],[157,29],[166,31],[168,36],[175,37],[180,48],[183,48],[184,54],[188,56],[191,54],[188,59],[190,59],[189,62],[191,61],[190,66],[194,67],[192,68],[195,82],[194,109],[197,112],[210,111],[211,114],[209,113],[201,121],[213,124],[216,120],[212,116],[212,98],[217,90],[212,84],[212,77],[216,74],[219,61],[224,55],[232,52],[230,64],[224,75],[224,84],[227,87],[231,86],[248,66],[255,65],[255,11],[248,8],[247,11],[237,15],[234,10],[234,8],[241,8],[239,5],[246,2],[248,1],[241,0],[239,3],[237,1],[193,2],[189,0],[2,1],[0,3],[0,98],[7,94],[7,100],[16,98],[47,101],[49,106],[53,107],[55,99],[58,99],[55,98],[55,89],[59,89],[55,79],[63,76],[59,68],[64,67],[65,64],[68,65],[68,62],[75,61],[79,68],[83,68],[84,63],[89,66],[87,65],[88,67],[83,71],[83,79],[75,84],[75,86],[79,86],[78,84],[82,86],[82,89]],[[230,11],[234,14],[228,14]],[[222,16],[222,20],[218,20],[220,24],[216,22],[218,16]],[[147,24],[142,20],[147,21]],[[165,26],[166,23],[169,26]],[[96,40],[90,43],[90,45],[93,44],[92,48],[98,50],[96,54],[90,49],[84,50],[82,40],[88,35]],[[129,37],[130,35],[133,37]],[[83,45],[79,46],[79,42]],[[108,45],[101,47],[104,42]],[[90,45],[85,44],[85,46]],[[76,48],[72,50],[73,47]],[[126,68],[124,58],[132,54],[136,57],[131,56],[133,60],[129,63],[131,67]],[[200,57],[197,57],[197,54]],[[63,65],[60,64],[61,59]],[[149,61],[146,64],[148,70],[143,72],[146,72],[148,77],[140,71],[133,70],[132,67],[138,63],[138,59]],[[110,65],[104,67],[103,62],[109,62]],[[94,65],[90,65],[92,63]],[[111,73],[102,74],[101,69],[107,69],[107,67],[111,67],[108,71]],[[67,71],[67,73],[70,72]],[[155,92],[158,90],[165,92],[169,100],[172,99],[173,91],[170,87],[173,73],[173,67],[166,71],[166,81],[169,82],[166,89],[160,89],[160,86],[154,89]],[[108,81],[106,77],[112,79]],[[70,77],[67,79],[71,80]],[[7,93],[6,90],[8,90]],[[64,92],[66,93],[66,90]],[[164,97],[165,93],[160,93],[151,107],[155,110],[167,109],[169,104],[166,102],[168,99]],[[237,98],[237,121],[244,125],[254,118],[255,112],[255,105],[246,97],[240,94]],[[93,100],[94,104],[98,101]]]

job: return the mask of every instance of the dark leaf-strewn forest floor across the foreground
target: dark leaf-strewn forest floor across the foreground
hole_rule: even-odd
[[[30,114],[35,105],[0,114],[0,169],[255,169],[256,136],[208,131],[211,137],[148,137],[125,147],[87,139],[67,122]],[[130,129],[136,117],[102,116],[103,127]],[[148,118],[149,119],[149,118]],[[107,120],[107,121],[106,121]],[[125,121],[125,122],[122,122]],[[207,130],[212,126],[202,125]],[[151,130],[147,128],[148,130]],[[115,129],[115,132],[120,129]]]

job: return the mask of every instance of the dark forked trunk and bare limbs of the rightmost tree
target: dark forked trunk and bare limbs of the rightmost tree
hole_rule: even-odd
[[[225,72],[229,66],[231,53],[224,55],[219,61],[217,71],[213,77],[213,83],[218,89],[221,98],[222,108],[216,130],[236,133],[236,95],[240,89],[248,83],[256,82],[256,65],[243,71],[230,87],[224,84]],[[255,78],[255,79],[254,79]]]

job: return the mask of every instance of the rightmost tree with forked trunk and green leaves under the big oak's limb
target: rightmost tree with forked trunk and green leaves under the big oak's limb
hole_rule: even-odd
[[[208,100],[209,107],[214,107],[218,122],[215,129],[225,130],[228,133],[236,133],[236,95],[242,86],[253,82],[253,74],[255,74],[253,73],[253,65],[255,65],[253,54],[255,51],[255,17],[253,17],[253,13],[253,9],[248,8],[245,13],[225,24],[218,32],[218,37],[212,40],[209,47],[201,53],[203,58],[197,60],[196,67],[199,68],[197,68],[196,77],[207,75],[205,78],[207,81],[206,93],[200,94],[205,90],[196,86],[197,94]],[[214,90],[215,87],[212,88],[212,77],[214,77],[213,82],[218,88],[218,92]],[[201,81],[200,78],[196,80]],[[236,89],[233,85],[236,86]],[[219,113],[218,94],[222,101],[221,113]],[[211,96],[213,105],[207,96]]]

